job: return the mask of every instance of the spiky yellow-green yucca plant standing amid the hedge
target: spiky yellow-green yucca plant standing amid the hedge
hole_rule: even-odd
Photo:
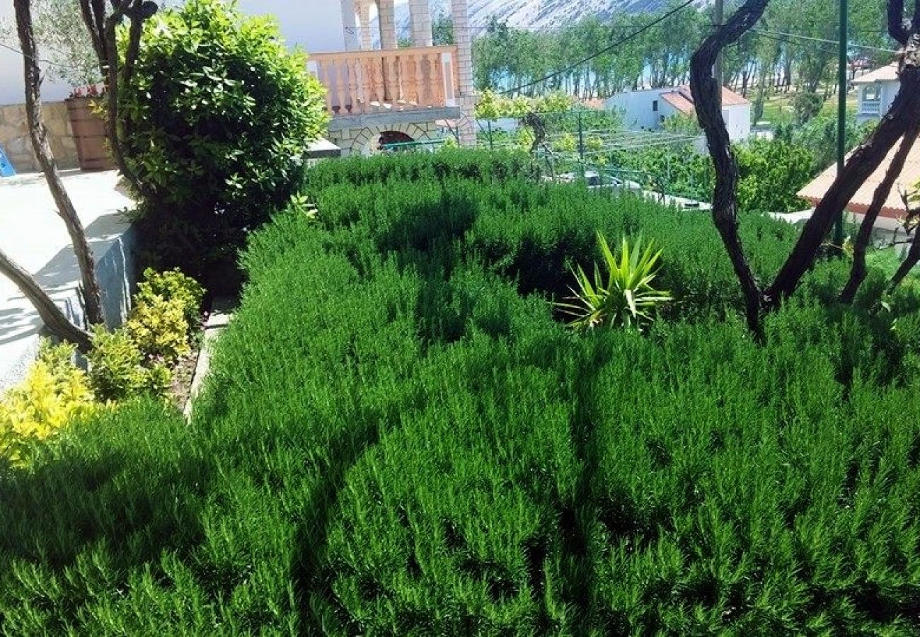
[[[599,326],[636,327],[639,330],[654,320],[656,307],[673,301],[670,292],[651,286],[658,273],[661,250],[655,251],[654,241],[642,249],[642,237],[629,245],[623,237],[619,258],[610,249],[607,239],[597,233],[597,245],[604,257],[606,272],[594,263],[594,278],[581,266],[572,269],[578,289],[569,288],[573,296],[570,303],[558,303],[564,312],[574,317],[569,325],[575,329]]]

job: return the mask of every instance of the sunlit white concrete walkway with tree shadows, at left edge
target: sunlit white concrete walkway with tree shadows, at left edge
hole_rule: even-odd
[[[63,180],[97,260],[107,319],[118,323],[135,280],[131,226],[119,214],[132,201],[116,190],[114,171],[64,171]],[[71,318],[82,322],[83,308],[76,292],[79,269],[42,175],[0,178],[0,248],[32,272]],[[0,389],[22,376],[34,358],[41,330],[40,318],[29,302],[0,276]]]

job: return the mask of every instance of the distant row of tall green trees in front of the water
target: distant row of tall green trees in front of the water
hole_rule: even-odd
[[[727,10],[733,8],[731,0]],[[689,81],[690,56],[712,25],[709,10],[687,7],[610,52],[578,64],[672,11],[669,0],[657,13],[586,17],[559,29],[514,29],[492,19],[474,40],[477,87],[524,95],[565,91],[579,98],[604,98],[639,87],[668,87]],[[824,93],[834,90],[837,62],[837,6],[829,0],[774,0],[756,29],[725,52],[726,84],[761,103],[769,92]],[[885,64],[895,49],[885,32],[885,0],[850,3],[850,63]],[[443,18],[440,29],[450,32]],[[552,75],[559,69],[570,70]],[[547,77],[552,75],[552,77]],[[516,90],[520,87],[520,90]],[[751,95],[753,94],[753,95]]]

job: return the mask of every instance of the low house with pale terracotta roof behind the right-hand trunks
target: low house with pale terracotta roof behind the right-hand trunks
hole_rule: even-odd
[[[885,173],[888,172],[888,167],[891,166],[891,159],[897,149],[897,144],[891,148],[891,152],[881,162],[879,168],[863,183],[862,187],[853,195],[853,199],[846,206],[846,212],[857,223],[862,222],[863,215],[868,211],[868,206],[872,203],[872,195],[875,193],[880,181],[885,177]],[[831,184],[834,183],[836,176],[836,165],[827,168],[815,180],[799,191],[799,197],[811,202],[812,205],[817,205],[821,202]],[[907,156],[904,169],[891,188],[891,193],[881,209],[879,219],[875,224],[876,228],[894,230],[901,226],[900,219],[905,214],[902,193],[914,191],[917,182],[920,182],[920,144],[914,145],[910,155]]]

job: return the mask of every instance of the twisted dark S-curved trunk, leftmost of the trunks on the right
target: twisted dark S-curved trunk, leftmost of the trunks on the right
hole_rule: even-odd
[[[694,96],[696,119],[706,132],[709,155],[716,169],[712,218],[741,283],[748,326],[754,332],[760,330],[760,315],[765,299],[744,256],[742,239],[738,234],[738,163],[731,152],[729,132],[720,107],[721,87],[713,69],[719,53],[738,41],[763,16],[767,2],[747,0],[724,25],[717,27],[703,41],[690,61],[690,89]]]

